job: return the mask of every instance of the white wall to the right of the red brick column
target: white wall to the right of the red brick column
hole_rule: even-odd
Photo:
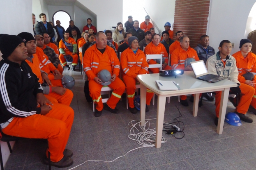
[[[219,43],[227,39],[235,43],[231,54],[239,51],[241,39],[247,38],[247,18],[256,0],[211,0],[207,35],[210,46],[218,51]]]

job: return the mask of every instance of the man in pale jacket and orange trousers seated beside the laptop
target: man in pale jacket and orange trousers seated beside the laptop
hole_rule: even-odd
[[[206,67],[210,74],[227,77],[230,81],[238,84],[237,87],[230,88],[231,92],[238,93],[240,96],[240,100],[235,108],[235,113],[238,114],[240,120],[251,123],[253,120],[245,116],[245,114],[248,111],[255,89],[252,86],[238,81],[238,69],[236,67],[235,58],[230,55],[231,49],[232,44],[230,41],[221,41],[219,44],[219,52],[206,61]],[[216,118],[214,123],[217,126],[219,120],[221,91],[216,91],[215,93]]]

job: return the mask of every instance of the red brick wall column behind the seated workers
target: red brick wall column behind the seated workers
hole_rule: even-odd
[[[191,48],[196,47],[200,36],[206,34],[210,0],[176,0],[173,24],[175,33],[182,31],[190,39]]]

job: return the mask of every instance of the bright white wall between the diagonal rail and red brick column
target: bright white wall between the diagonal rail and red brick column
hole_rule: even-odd
[[[155,22],[155,24],[159,28],[160,33],[162,33],[165,30],[164,24],[166,22],[171,23],[171,30],[173,30],[175,0],[145,0],[144,8],[148,12],[150,18]],[[156,27],[155,32],[158,32]]]

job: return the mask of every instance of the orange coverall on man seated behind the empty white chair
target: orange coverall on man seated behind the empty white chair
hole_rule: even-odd
[[[171,70],[171,67],[168,66],[168,53],[164,47],[163,44],[159,43],[157,46],[154,45],[152,42],[150,42],[144,50],[145,55],[146,54],[163,54],[164,57],[164,63],[167,64],[167,66],[164,68],[164,70]],[[156,64],[157,62],[155,60],[148,60],[148,64]],[[152,73],[159,73],[159,68],[150,68],[150,71]]]

